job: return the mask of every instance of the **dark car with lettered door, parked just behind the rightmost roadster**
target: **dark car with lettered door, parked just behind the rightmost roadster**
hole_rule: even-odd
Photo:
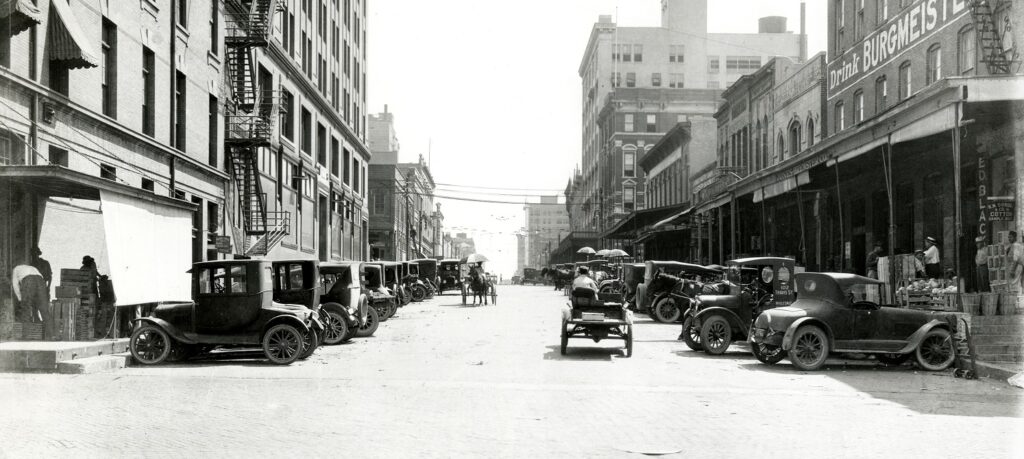
[[[722,354],[746,339],[759,314],[793,302],[796,261],[752,257],[726,261],[728,294],[701,294],[683,317],[680,337],[693,350]]]

